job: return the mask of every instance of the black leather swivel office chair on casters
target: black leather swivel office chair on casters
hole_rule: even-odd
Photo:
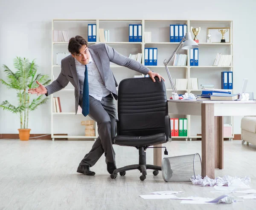
[[[138,169],[142,173],[140,180],[147,175],[147,169],[153,169],[157,175],[160,166],[146,164],[145,150],[151,145],[163,144],[171,138],[170,118],[164,81],[155,77],[128,78],[119,83],[118,119],[111,120],[111,138],[113,144],[136,147],[139,150],[139,164],[114,170],[117,173]],[[117,135],[116,135],[117,132]]]

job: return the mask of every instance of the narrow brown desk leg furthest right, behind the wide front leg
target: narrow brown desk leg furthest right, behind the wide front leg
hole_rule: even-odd
[[[214,117],[214,135],[215,135],[215,168],[223,169],[223,143],[224,143],[224,135],[223,135],[223,117],[216,116]]]

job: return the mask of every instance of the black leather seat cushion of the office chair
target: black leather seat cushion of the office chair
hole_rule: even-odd
[[[143,147],[163,143],[166,143],[165,133],[144,136],[117,135],[114,138],[114,144],[121,146]]]

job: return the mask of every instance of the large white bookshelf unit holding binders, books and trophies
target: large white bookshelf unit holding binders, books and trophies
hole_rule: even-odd
[[[96,42],[88,42],[88,45],[93,45],[99,42],[99,29],[110,31],[110,42],[106,42],[109,46],[116,49],[117,52],[122,55],[129,56],[129,54],[142,53],[142,64],[144,64],[144,50],[145,47],[157,48],[157,66],[147,66],[151,71],[160,73],[166,82],[166,94],[170,98],[172,96],[172,87],[169,82],[168,75],[166,73],[163,61],[168,59],[172,52],[176,49],[178,43],[169,42],[169,25],[170,24],[186,24],[188,32],[191,32],[190,27],[201,27],[201,32],[199,33],[198,49],[199,49],[199,66],[189,65],[189,50],[180,49],[177,53],[187,54],[187,66],[172,66],[172,60],[170,66],[168,66],[169,71],[173,79],[176,78],[187,78],[188,86],[187,89],[178,90],[178,94],[184,94],[185,92],[192,92],[194,94],[200,95],[202,89],[190,89],[190,78],[198,78],[198,88],[202,83],[213,83],[216,89],[221,89],[221,71],[232,71],[233,72],[233,61],[231,66],[212,66],[216,54],[221,52],[222,54],[229,54],[233,56],[233,22],[230,20],[79,20],[79,19],[54,19],[52,20],[52,32],[55,29],[67,30],[69,38],[76,35],[81,35],[87,40],[87,24],[96,24]],[[129,42],[128,32],[129,24],[142,24],[142,42]],[[230,27],[230,43],[207,43],[207,28],[221,28]],[[144,32],[151,32],[151,42],[145,43]],[[191,32],[192,33],[192,32]],[[226,34],[227,35],[227,34]],[[194,35],[192,34],[192,37]],[[57,52],[68,52],[67,51],[68,42],[53,42],[52,41],[52,75],[55,78],[60,72],[60,65],[56,65],[56,53]],[[123,66],[118,66],[111,63],[111,70],[119,83],[122,79],[133,77],[134,75],[141,75],[131,69],[127,69]],[[69,121],[70,117],[75,115],[74,110],[74,98],[71,98],[74,89],[73,86],[67,86],[59,94],[63,94],[63,100],[65,104],[73,105],[73,108],[65,109],[65,112],[56,113],[52,112],[51,109],[51,122],[52,122],[52,139],[54,138],[73,138],[73,139],[94,139],[98,137],[97,126],[95,124],[96,135],[92,137],[86,137],[80,135],[79,133],[71,133],[68,135],[54,135],[55,130],[53,128],[54,118],[57,117],[58,121]],[[56,93],[57,94],[57,93]],[[54,94],[53,94],[54,96]],[[52,96],[52,97],[53,97]],[[74,97],[74,96],[73,96]],[[115,101],[116,106],[117,102]],[[63,104],[63,103],[62,103]],[[53,107],[52,107],[53,108]],[[78,113],[78,117],[81,120],[87,120],[87,118],[82,118],[83,115]],[[190,116],[190,115],[170,115],[171,118],[187,118],[188,119],[188,136],[174,136],[172,138],[192,140],[192,138],[201,138],[201,117]],[[79,121],[76,119],[76,121]],[[57,121],[57,123],[58,123]],[[74,120],[75,121],[75,120]],[[80,121],[79,121],[80,122]],[[233,125],[233,117],[225,117],[224,123]],[[233,127],[233,126],[232,126]],[[63,128],[63,132],[58,130],[58,133],[65,133],[66,129]],[[232,132],[233,133],[233,132]],[[224,138],[233,138],[232,136],[224,136]]]

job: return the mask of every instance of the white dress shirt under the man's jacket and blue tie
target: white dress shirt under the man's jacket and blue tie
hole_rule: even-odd
[[[88,50],[88,53],[90,54],[89,50]],[[80,92],[82,93],[84,88],[85,66],[84,64],[81,64],[78,60],[76,60],[76,58],[75,58],[75,64],[76,64],[76,71],[79,79]],[[99,74],[99,70],[93,58],[91,57],[91,55],[90,55],[89,63],[87,64],[87,71],[88,71],[89,95],[101,101],[102,97],[109,95],[111,92],[105,87],[102,81],[102,78]]]

